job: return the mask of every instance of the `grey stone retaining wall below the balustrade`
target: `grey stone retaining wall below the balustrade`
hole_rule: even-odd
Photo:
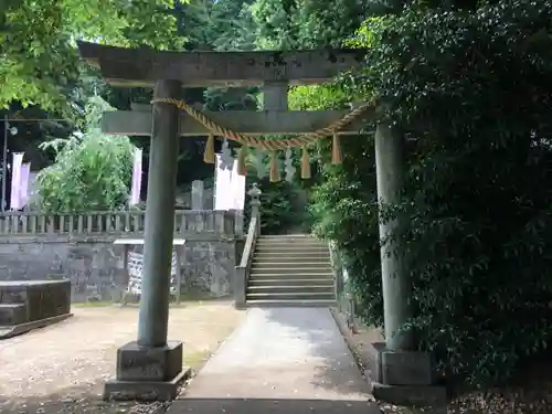
[[[12,236],[0,238],[0,280],[67,277],[72,300],[119,300],[126,289],[125,247],[113,236]],[[188,241],[180,252],[182,291],[232,294],[240,246],[234,240]],[[129,247],[141,251],[140,246]]]

